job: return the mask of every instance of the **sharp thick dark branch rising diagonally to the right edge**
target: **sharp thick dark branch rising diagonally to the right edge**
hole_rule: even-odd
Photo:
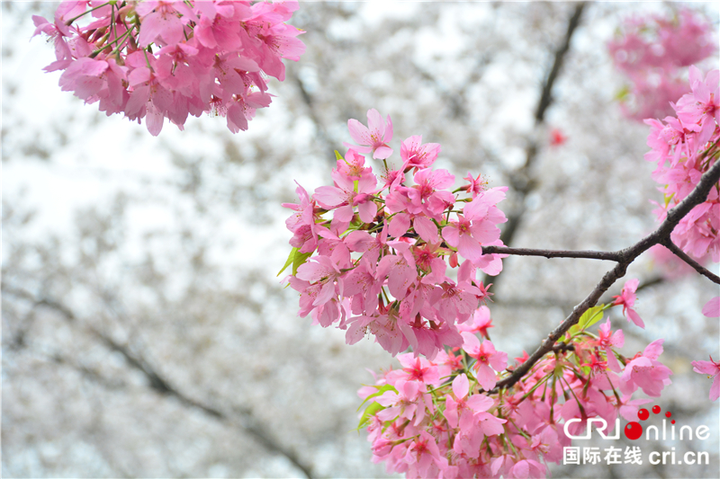
[[[668,212],[668,216],[665,221],[662,222],[653,233],[645,236],[643,239],[633,244],[632,246],[617,252],[620,254],[620,261],[612,270],[608,271],[603,279],[600,280],[598,285],[592,290],[590,295],[586,297],[580,305],[575,306],[572,309],[572,313],[563,320],[554,331],[547,335],[547,338],[536,351],[517,369],[515,369],[509,377],[505,377],[500,380],[498,384],[492,389],[491,393],[499,391],[501,388],[508,388],[517,383],[523,376],[527,374],[527,371],[532,368],[537,361],[542,359],[545,354],[553,350],[555,342],[557,342],[563,334],[566,333],[574,324],[577,324],[580,317],[590,307],[598,304],[599,298],[610,288],[617,279],[625,276],[627,266],[634,262],[640,254],[649,250],[655,244],[662,244],[670,238],[672,230],[675,226],[678,226],[680,220],[685,217],[692,208],[702,203],[707,199],[707,194],[710,189],[720,181],[720,162],[713,165],[710,170],[707,171],[698,182],[695,189],[688,195],[685,200],[682,200],[678,206],[672,208]]]

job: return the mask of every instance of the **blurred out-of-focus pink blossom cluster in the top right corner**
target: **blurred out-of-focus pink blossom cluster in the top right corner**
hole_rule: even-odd
[[[687,8],[671,16],[626,20],[608,43],[616,67],[630,81],[620,93],[626,116],[635,120],[671,113],[670,102],[688,92],[686,67],[715,53],[715,28]]]

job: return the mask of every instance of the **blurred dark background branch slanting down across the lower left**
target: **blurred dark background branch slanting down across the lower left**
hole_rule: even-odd
[[[28,293],[27,291],[9,289],[6,288],[5,285],[3,286],[4,292],[9,292],[15,296],[24,297],[25,299],[31,300],[34,302],[35,306],[46,306],[49,309],[57,311],[60,315],[65,316],[68,322],[76,323],[76,315],[67,306],[64,306],[58,301],[49,298],[36,299],[33,295],[31,295],[31,293]],[[296,466],[302,471],[303,475],[308,477],[308,479],[312,479],[311,467],[303,464],[300,458],[297,457],[293,451],[284,448],[284,446],[278,444],[275,439],[272,439],[265,432],[265,428],[257,424],[257,421],[253,418],[252,413],[249,410],[243,408],[239,411],[242,414],[245,423],[238,424],[225,412],[222,412],[219,409],[212,407],[211,405],[202,404],[199,401],[195,401],[191,397],[184,395],[184,393],[182,393],[178,389],[175,389],[175,387],[172,386],[164,377],[162,377],[154,368],[152,368],[145,359],[140,356],[136,356],[126,346],[122,345],[119,342],[115,342],[112,338],[105,336],[103,333],[95,330],[92,327],[90,327],[90,331],[95,336],[97,336],[98,339],[103,342],[109,349],[119,352],[127,360],[131,368],[137,369],[139,372],[145,375],[145,377],[147,377],[148,379],[149,386],[154,389],[158,394],[173,396],[181,404],[193,407],[195,409],[199,409],[218,421],[225,421],[230,424],[238,425],[240,429],[244,430],[249,435],[257,439],[257,441],[260,442],[260,444],[262,444],[264,448],[275,454],[280,454],[281,456],[286,457],[291,463],[293,463],[294,466]]]

